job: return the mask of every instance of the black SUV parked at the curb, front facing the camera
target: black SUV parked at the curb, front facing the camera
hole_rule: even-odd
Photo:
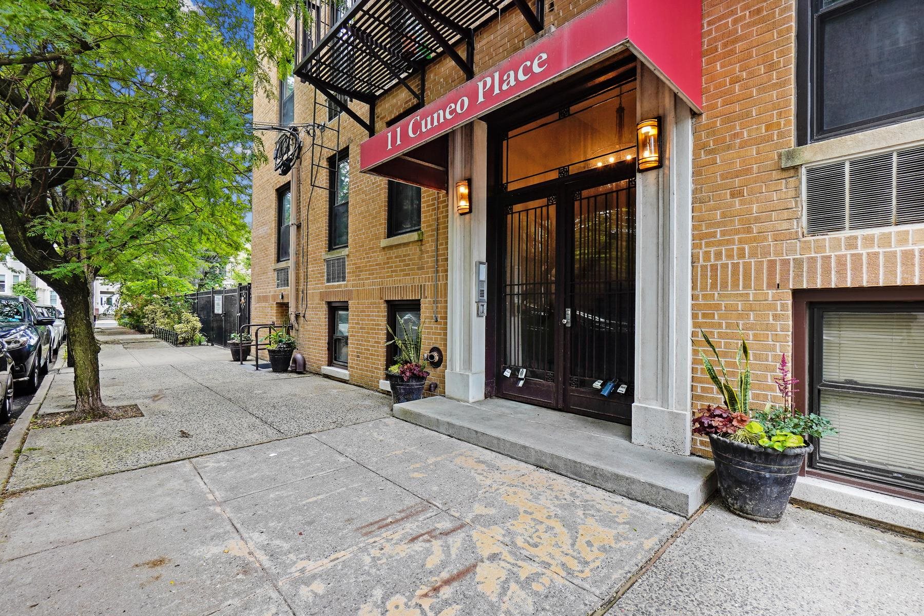
[[[39,377],[48,371],[54,323],[28,297],[0,295],[0,339],[13,359],[13,379],[29,392],[39,388]]]

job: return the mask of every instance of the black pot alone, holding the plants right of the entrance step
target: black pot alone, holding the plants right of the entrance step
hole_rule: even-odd
[[[814,447],[784,449],[729,441],[709,435],[719,492],[725,506],[758,522],[779,522],[806,454]]]

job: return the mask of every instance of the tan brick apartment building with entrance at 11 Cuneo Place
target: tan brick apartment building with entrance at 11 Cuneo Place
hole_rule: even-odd
[[[826,379],[833,377],[826,373],[829,368],[820,368],[828,363],[819,342],[841,335],[843,332],[834,329],[837,323],[854,315],[880,328],[864,333],[871,337],[858,343],[881,342],[881,353],[873,354],[880,363],[888,363],[891,356],[917,353],[918,342],[924,344],[924,154],[918,152],[924,144],[924,78],[919,68],[922,63],[910,61],[924,60],[924,38],[919,28],[921,18],[911,4],[906,0],[665,0],[653,4],[547,0],[537,26],[537,16],[529,18],[514,3],[507,3],[503,10],[462,24],[474,29],[473,36],[468,45],[456,40],[452,45],[455,57],[444,52],[426,55],[420,62],[425,66],[422,71],[407,70],[407,75],[398,76],[401,79],[395,78],[395,71],[403,70],[398,65],[407,60],[405,55],[399,62],[380,66],[370,57],[375,54],[361,53],[376,43],[362,30],[364,23],[373,23],[375,16],[370,14],[374,7],[365,3],[347,7],[348,18],[337,22],[340,30],[325,26],[334,34],[325,37],[319,30],[309,35],[310,49],[302,49],[307,60],[296,70],[310,82],[295,79],[295,125],[319,123],[328,129],[317,129],[313,139],[301,130],[303,151],[290,174],[278,175],[272,164],[254,171],[253,320],[288,320],[312,371],[379,389],[385,385],[383,370],[388,364],[389,351],[384,343],[389,315],[395,305],[419,305],[424,348],[438,346],[447,357],[442,368],[432,371],[436,384],[433,393],[465,402],[499,395],[607,417],[631,423],[632,441],[637,444],[702,455],[709,455],[708,441],[691,437],[689,413],[720,398],[699,365],[697,352],[704,347],[699,330],[710,335],[730,362],[734,362],[740,330],[752,353],[755,406],[774,400],[772,379],[785,354],[802,381],[796,400],[800,407],[832,415],[843,426],[840,441],[832,440],[836,443],[832,451],[837,451],[830,461],[826,462],[824,455],[816,456],[809,463],[808,475],[919,498],[918,475],[924,476],[924,469],[908,462],[915,457],[913,451],[908,450],[911,453],[901,460],[872,451],[875,448],[864,453],[868,456],[865,460],[842,454],[841,448],[857,446],[857,434],[862,429],[857,428],[857,418],[850,415],[849,408],[832,407],[831,393],[825,387]],[[313,14],[320,16],[322,24],[338,17],[327,6],[308,6],[311,11],[320,10]],[[519,86],[514,86],[513,80],[517,66],[526,76],[530,70],[538,73],[544,69],[543,62],[553,63],[554,58],[550,60],[541,51],[543,45],[556,49],[556,42],[569,42],[569,53],[577,57],[588,46],[583,44],[586,40],[611,36],[605,28],[594,29],[592,22],[600,16],[605,18],[606,28],[626,28],[612,34],[609,48],[588,52],[586,59],[575,60],[574,66],[558,71],[548,82],[537,81],[536,86],[517,91],[503,104],[486,106],[458,126],[445,130],[435,127],[439,122],[450,124],[445,111],[451,114],[455,109],[461,115],[461,106],[440,107],[444,101],[462,96],[467,92],[466,84],[480,84],[481,79],[490,78],[492,70],[498,70],[494,79],[499,82],[507,68],[505,63],[518,63],[524,57],[534,63],[510,66],[511,83],[505,82],[504,90],[508,85],[516,89]],[[692,38],[687,28],[690,19],[696,23]],[[858,23],[871,24],[868,30],[872,33],[857,34]],[[399,32],[398,37],[423,37],[424,30],[409,29]],[[452,30],[441,31],[448,36]],[[340,39],[353,41],[352,46],[343,43],[337,51],[342,42],[337,40],[337,31],[341,32]],[[577,32],[583,32],[583,38]],[[304,34],[300,36],[304,40]],[[845,48],[851,41],[856,42],[856,48],[848,54]],[[323,57],[343,60],[353,53],[350,49],[356,55],[349,56],[353,58],[348,60],[353,69],[349,78],[316,62]],[[854,72],[845,69],[848,59],[854,63]],[[470,61],[468,74],[466,66],[460,64],[465,60]],[[686,70],[690,65],[685,63],[690,61],[693,71]],[[407,62],[410,66],[410,60]],[[864,62],[869,66],[864,68]],[[876,96],[882,87],[877,76],[887,65],[897,66],[894,73],[906,88],[894,100],[883,101]],[[392,78],[385,79],[388,87],[373,87],[375,76],[386,74]],[[863,75],[868,76],[861,79]],[[325,109],[326,97],[317,91],[318,83],[322,88],[340,88],[345,98],[345,91],[355,91],[357,98],[349,103],[353,116],[333,113],[327,121],[326,112],[319,111]],[[846,86],[855,89],[856,97],[843,96]],[[470,87],[474,92],[475,86]],[[480,99],[488,89],[479,88]],[[494,92],[498,91],[500,88],[494,86]],[[563,98],[570,91],[575,92],[572,99]],[[421,102],[414,92],[422,94]],[[499,96],[504,98],[503,93]],[[361,102],[361,97],[368,100]],[[612,115],[617,97],[618,111]],[[577,135],[567,132],[574,129],[567,124],[567,117],[584,114],[597,105],[593,108],[606,109],[611,120],[618,115],[620,128],[614,130],[618,132],[623,129],[624,98],[634,106],[628,107],[630,131],[635,131],[636,122],[649,118],[660,122],[663,160],[659,167],[652,172],[635,171],[638,152],[634,136],[629,149],[626,139],[616,135],[618,143],[606,145],[604,154],[599,154],[603,150],[589,149],[583,159],[578,161],[577,157],[558,166],[557,178],[541,175],[551,173],[542,171],[543,167],[537,177],[547,181],[529,180],[529,187],[514,188],[516,183],[508,175],[515,155],[511,136],[518,130],[533,126],[530,121],[550,126],[559,122],[555,126],[560,127],[562,149],[567,150],[567,139]],[[859,103],[838,106],[835,98]],[[558,111],[549,105],[557,105]],[[530,110],[535,110],[532,115]],[[554,113],[543,115],[550,111]],[[279,101],[255,96],[255,121],[279,124],[280,114]],[[323,116],[320,122],[319,114]],[[363,127],[360,121],[370,115],[371,125]],[[438,118],[432,119],[432,137],[415,137],[413,144],[401,144],[391,151],[395,145],[391,139],[400,142],[403,134],[409,141],[412,123],[428,117]],[[546,119],[540,121],[540,117]],[[590,113],[582,117],[589,125],[595,121]],[[594,131],[601,132],[601,126],[613,130],[616,123],[593,126]],[[401,133],[402,129],[407,132]],[[275,134],[262,135],[267,151],[272,151]],[[590,143],[587,135],[574,139]],[[323,166],[338,150],[348,152],[348,246],[332,249],[331,179]],[[533,144],[531,151],[533,158],[554,158],[554,150],[540,156],[535,152],[542,148]],[[629,163],[620,165],[624,159],[631,161],[629,175],[625,175]],[[594,169],[594,164],[602,168]],[[588,180],[578,186],[583,181],[578,178],[591,178],[594,173],[601,178],[597,184]],[[422,179],[427,174],[431,179]],[[424,186],[419,229],[390,234],[390,180],[386,177]],[[572,177],[572,184],[567,184]],[[454,187],[459,179],[472,185],[473,213],[465,216],[456,213]],[[559,270],[562,265],[569,268],[570,273],[560,278],[566,277],[571,285],[567,291],[571,304],[533,307],[527,314],[524,307],[529,302],[512,298],[509,290],[515,276],[510,263],[519,259],[511,254],[511,229],[519,224],[512,217],[526,207],[524,204],[537,202],[539,193],[532,184],[552,187],[541,199],[548,199],[553,218],[559,216],[561,230],[562,223],[571,224],[570,218],[563,217],[569,214],[556,214],[551,208],[562,211],[563,196],[571,199],[567,191],[578,186],[573,205],[578,216],[577,208],[584,207],[580,204],[590,203],[587,195],[602,194],[598,185],[604,180],[606,186],[628,190],[626,194],[634,199],[626,210],[631,212],[626,218],[631,226],[613,230],[617,235],[626,233],[621,237],[631,238],[634,245],[629,251],[634,263],[629,284],[632,295],[627,296],[633,298],[633,307],[618,314],[614,309],[605,312],[609,308],[599,308],[601,301],[606,304],[611,300],[598,297],[594,300],[598,308],[580,308],[573,288],[581,282],[579,275],[589,270],[578,265],[577,257],[561,256],[559,247],[554,259],[560,260]],[[279,195],[286,186],[293,190],[291,255],[288,260],[278,260],[274,256],[278,256],[280,236]],[[613,188],[612,194],[616,190]],[[522,193],[522,199],[515,199],[515,193]],[[605,207],[611,208],[606,212],[610,219],[623,215],[623,206]],[[504,208],[506,218],[503,212],[498,213]],[[573,235],[568,231],[572,252],[603,249],[597,245],[581,248],[579,242],[587,241],[586,234],[580,235],[581,229],[587,225],[576,224]],[[534,227],[530,237],[542,235],[536,229],[539,227]],[[528,250],[525,259],[530,263],[538,259],[540,244],[529,248],[532,252]],[[606,248],[614,252],[605,253],[600,260],[617,262],[623,258],[624,248]],[[329,282],[325,278],[327,263],[343,257],[346,281]],[[489,272],[486,318],[474,312],[476,265],[480,262],[487,263]],[[281,277],[278,271],[286,268],[287,276]],[[552,295],[565,289],[555,286],[564,284],[558,279],[528,282],[552,284],[557,289]],[[612,278],[607,284],[622,283]],[[348,308],[348,360],[342,362],[346,365],[335,366],[331,311],[338,307]],[[544,340],[542,332],[553,325],[558,327],[555,324],[559,320],[571,327],[572,308],[575,329],[585,328],[590,333],[578,340],[575,329],[555,330],[552,342],[543,347],[543,352],[556,357],[554,361],[550,358],[543,364],[534,357],[523,358],[529,349],[524,351],[522,341],[510,342],[516,338],[511,334],[514,329],[517,335],[531,332],[529,336]],[[886,313],[888,318],[882,320]],[[896,327],[897,320],[904,329],[883,329]],[[605,327],[604,322],[608,323]],[[606,341],[611,340],[606,336],[612,336],[613,344],[622,349],[626,339],[620,335],[629,336],[631,341],[627,356],[596,360],[598,365],[593,369],[599,374],[577,368],[574,357],[579,345],[591,346],[594,336]],[[510,350],[511,344],[517,345],[516,352]],[[555,355],[559,346],[565,348],[564,358]],[[838,361],[854,367],[856,358],[849,353],[858,347],[848,347],[847,343],[839,347],[842,355]],[[535,355],[535,350],[532,353]],[[562,361],[567,362],[564,376]],[[914,360],[909,361],[911,368],[890,364],[882,371],[904,375],[895,377],[895,382],[881,374],[871,375],[869,382],[873,384],[861,385],[857,391],[850,390],[850,383],[857,379],[866,382],[865,377],[848,375],[843,382],[834,383],[835,389],[840,388],[837,395],[846,396],[845,400],[849,396],[897,396],[909,406],[896,407],[894,412],[903,417],[902,421],[920,420],[924,427],[924,402],[918,393],[922,385],[914,385],[917,376],[924,383],[924,375],[915,371]],[[505,368],[513,368],[515,375],[518,369],[526,369],[525,386],[508,380]],[[876,384],[876,379],[885,380]],[[552,385],[543,384],[543,380]],[[619,403],[623,406],[614,402],[619,396],[610,398],[606,405],[591,400],[597,395],[590,389],[593,380],[626,385],[627,390],[621,388],[626,390]],[[851,403],[843,404],[849,407]],[[865,404],[857,402],[857,407]],[[894,438],[894,430],[886,429],[881,438]],[[914,447],[899,441],[899,449]]]

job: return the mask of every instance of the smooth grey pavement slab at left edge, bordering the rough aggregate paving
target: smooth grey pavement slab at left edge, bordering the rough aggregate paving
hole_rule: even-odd
[[[0,510],[0,561],[213,503],[188,462],[24,492]]]

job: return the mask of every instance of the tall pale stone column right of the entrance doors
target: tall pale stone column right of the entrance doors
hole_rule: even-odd
[[[636,186],[636,368],[632,442],[690,452],[692,122],[638,64],[638,121],[661,116],[663,167]]]

